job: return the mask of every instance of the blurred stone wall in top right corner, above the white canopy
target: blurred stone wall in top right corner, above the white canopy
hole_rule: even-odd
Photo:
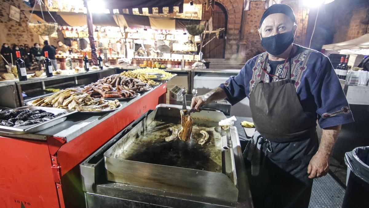
[[[333,43],[352,40],[369,33],[369,1],[336,1]]]

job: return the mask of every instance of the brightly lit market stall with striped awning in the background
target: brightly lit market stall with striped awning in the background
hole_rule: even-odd
[[[81,3],[76,1],[76,4]],[[181,5],[164,8],[157,5],[155,8],[129,7],[123,11],[113,9],[113,12],[101,6],[100,13],[92,13],[89,19],[86,11],[81,9],[82,4],[78,7],[62,3],[49,6],[50,17],[44,17],[41,11],[34,11],[34,14],[45,18],[46,21],[53,21],[52,17],[55,17],[59,30],[54,37],[61,37],[62,34],[64,38],[61,40],[63,44],[57,48],[57,58],[62,69],[73,68],[72,64],[68,63],[69,58],[72,59],[73,66],[78,63],[81,65],[85,51],[87,57],[92,58],[93,45],[109,64],[116,64],[119,58],[127,58],[122,61],[132,61],[134,66],[156,67],[160,63],[159,68],[168,65],[170,68],[180,67],[181,61],[184,61],[183,67],[189,68],[195,61],[200,60],[196,46],[196,43],[200,43],[200,36],[187,33],[187,27],[200,24],[202,5],[183,5],[183,1],[179,4]],[[121,8],[117,5],[111,8]],[[96,5],[91,6],[90,10],[96,10],[95,7]],[[101,13],[105,10],[105,13]],[[93,23],[91,32],[90,23]],[[204,27],[203,24],[205,23],[202,23]]]

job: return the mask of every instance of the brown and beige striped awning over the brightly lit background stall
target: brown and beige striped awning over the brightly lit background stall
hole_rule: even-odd
[[[34,11],[42,17],[41,11]],[[60,26],[85,26],[87,25],[86,14],[83,13],[62,13],[51,12]],[[53,22],[51,16],[45,15],[45,21]],[[134,14],[92,14],[92,21],[95,26],[115,26],[115,27],[139,27],[154,30],[184,30],[186,25],[199,24],[200,20],[186,20],[175,18],[151,17]]]

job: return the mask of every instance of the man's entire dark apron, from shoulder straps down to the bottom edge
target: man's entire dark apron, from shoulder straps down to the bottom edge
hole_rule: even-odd
[[[262,64],[263,69],[267,61],[268,55]],[[272,83],[263,83],[268,75],[262,70],[249,96],[256,130],[266,139],[262,148],[269,151],[264,156],[266,174],[258,178],[267,187],[262,191],[265,197],[261,199],[263,207],[294,207],[297,204],[298,207],[308,207],[313,183],[308,178],[307,166],[318,148],[316,119],[308,118],[303,111],[290,78],[291,61],[287,64],[286,78]],[[275,160],[292,158],[299,149],[306,153],[293,160]]]

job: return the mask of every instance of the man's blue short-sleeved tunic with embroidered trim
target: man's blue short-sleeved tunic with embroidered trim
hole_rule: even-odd
[[[279,77],[286,77],[291,63],[291,79],[294,82],[300,104],[308,117],[318,120],[321,128],[351,123],[354,121],[344,91],[327,56],[298,46],[295,56],[284,65],[267,64],[266,71]],[[236,104],[249,98],[252,88],[261,76],[261,67],[266,60],[266,52],[248,60],[237,76],[230,77],[220,87],[227,94],[227,100]],[[284,65],[284,66],[283,66]],[[263,82],[279,79],[265,76]],[[286,97],[288,102],[288,97]],[[281,109],[288,114],[288,109]],[[293,119],[293,115],[290,115]]]

